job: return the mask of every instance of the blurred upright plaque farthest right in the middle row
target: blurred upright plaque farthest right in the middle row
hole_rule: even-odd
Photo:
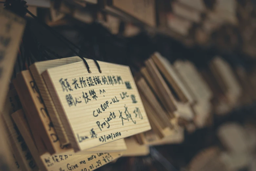
[[[236,103],[238,98],[242,95],[242,88],[232,70],[230,65],[221,59],[215,57],[211,63],[215,66],[216,72],[219,73],[217,77],[221,77],[223,83],[227,87],[227,98],[233,104]],[[214,73],[213,73],[214,74]],[[217,79],[217,78],[216,78]],[[217,79],[218,80],[218,79]]]

